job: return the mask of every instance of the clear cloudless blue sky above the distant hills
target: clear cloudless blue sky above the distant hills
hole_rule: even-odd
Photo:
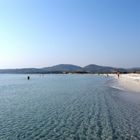
[[[0,68],[140,67],[140,0],[0,0]]]

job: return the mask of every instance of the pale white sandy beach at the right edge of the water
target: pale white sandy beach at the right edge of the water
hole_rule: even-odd
[[[117,75],[112,76],[118,79]],[[125,89],[140,92],[140,74],[120,74],[118,84]]]

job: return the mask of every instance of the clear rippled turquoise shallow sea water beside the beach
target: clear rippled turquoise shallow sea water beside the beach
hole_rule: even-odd
[[[0,140],[140,140],[140,94],[93,75],[0,75]]]

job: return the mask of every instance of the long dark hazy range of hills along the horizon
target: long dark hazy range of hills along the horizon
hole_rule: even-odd
[[[90,64],[85,67],[80,67],[71,64],[60,64],[52,67],[45,68],[23,68],[23,69],[0,69],[0,73],[8,74],[47,74],[47,73],[115,73],[120,71],[121,73],[136,72],[140,73],[140,68],[114,68],[109,66],[99,66]]]

